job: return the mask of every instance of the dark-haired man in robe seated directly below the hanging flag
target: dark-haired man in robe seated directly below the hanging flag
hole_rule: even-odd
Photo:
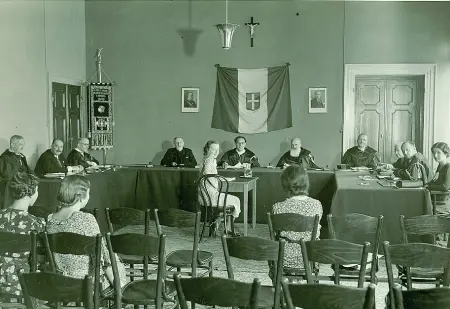
[[[224,153],[218,165],[223,167],[243,167],[243,163],[250,163],[252,167],[259,167],[258,158],[255,153],[245,146],[247,145],[247,140],[243,136],[238,136],[234,139],[234,144],[236,148],[228,150]]]

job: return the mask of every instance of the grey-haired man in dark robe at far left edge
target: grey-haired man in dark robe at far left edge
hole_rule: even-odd
[[[33,173],[28,166],[27,158],[22,154],[25,139],[20,135],[13,135],[9,140],[9,149],[0,155],[0,206],[6,206],[6,187],[11,178],[18,172]]]

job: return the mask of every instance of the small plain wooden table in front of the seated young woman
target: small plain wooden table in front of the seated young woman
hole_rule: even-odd
[[[252,228],[256,228],[256,181],[258,177],[244,178],[236,177],[235,180],[228,182],[228,193],[244,193],[244,236],[247,236],[248,224],[248,192],[252,191]]]

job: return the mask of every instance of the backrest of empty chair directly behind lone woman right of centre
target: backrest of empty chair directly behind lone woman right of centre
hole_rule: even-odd
[[[301,239],[300,246],[302,248],[303,263],[305,265],[308,283],[314,283],[311,269],[313,262],[334,265],[335,284],[340,283],[339,265],[358,264],[360,265],[358,287],[363,287],[367,256],[370,250],[369,242],[365,242],[364,245],[359,245],[338,239],[322,239],[306,242]]]

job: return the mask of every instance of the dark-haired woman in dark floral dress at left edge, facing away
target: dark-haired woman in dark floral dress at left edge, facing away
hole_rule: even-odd
[[[11,204],[0,210],[0,231],[18,234],[37,233],[45,230],[45,222],[28,213],[38,197],[38,178],[33,174],[17,173],[8,183]],[[39,244],[40,245],[40,244]],[[16,302],[21,298],[17,270],[29,272],[30,253],[6,253],[0,256],[0,301]]]

